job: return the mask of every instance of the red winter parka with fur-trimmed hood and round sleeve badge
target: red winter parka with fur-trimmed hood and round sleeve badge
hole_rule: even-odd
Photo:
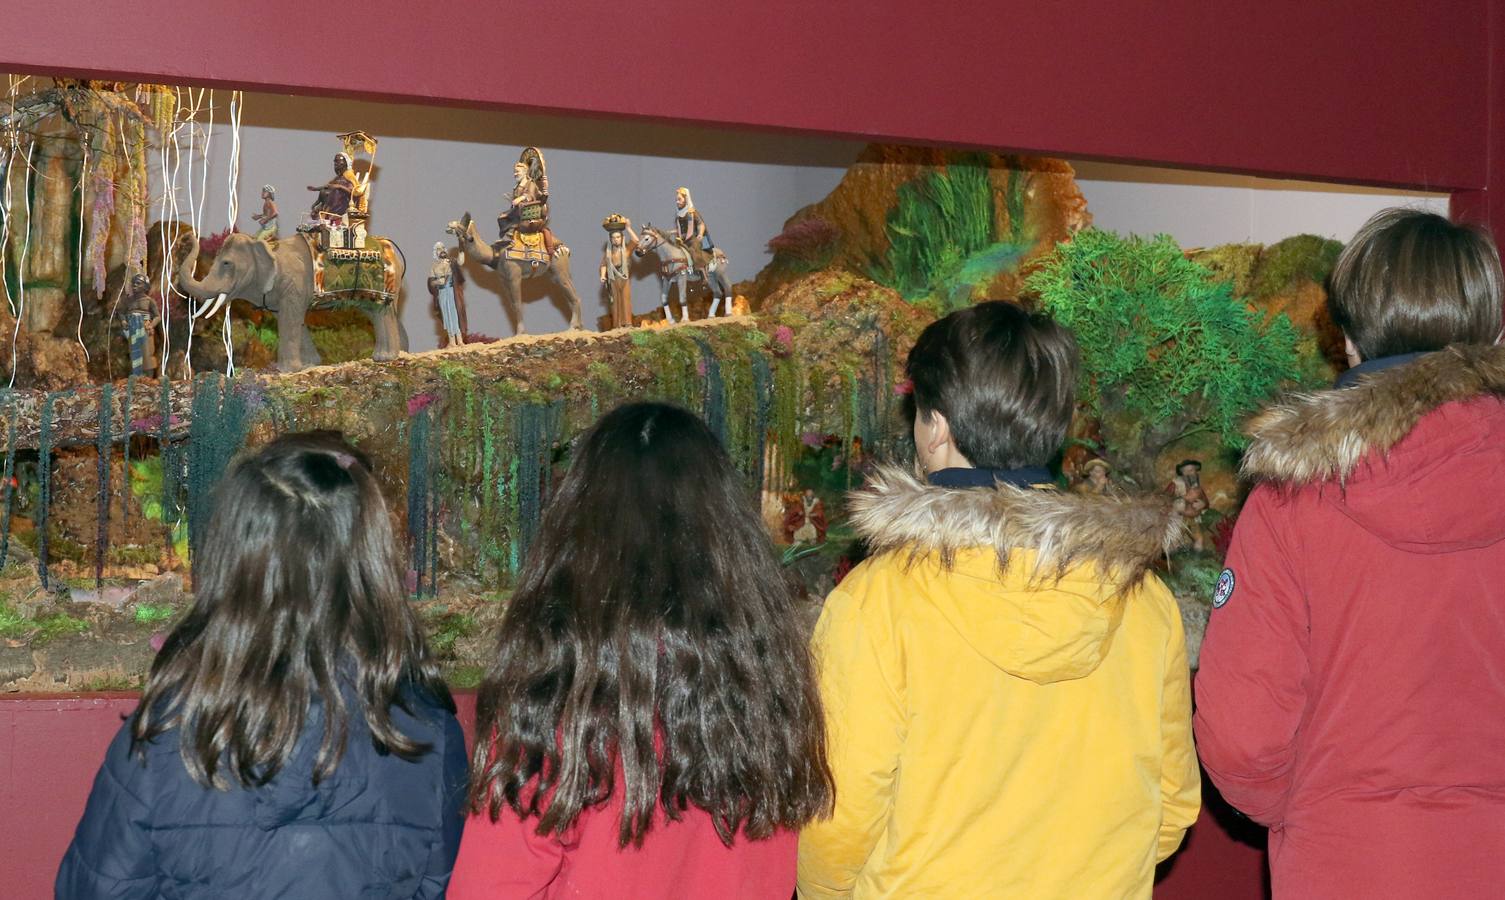
[[[1263,414],[1196,745],[1275,897],[1505,889],[1505,348]]]

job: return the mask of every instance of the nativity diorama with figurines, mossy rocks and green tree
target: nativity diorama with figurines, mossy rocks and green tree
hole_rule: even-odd
[[[599,289],[607,315],[587,331],[546,149],[495,147],[510,179],[474,191],[495,220],[455,211],[420,223],[432,247],[400,248],[382,223],[405,211],[381,188],[432,173],[373,178],[381,135],[351,131],[307,170],[242,187],[238,137],[215,140],[214,123],[244,102],[15,77],[0,98],[3,691],[138,686],[187,608],[215,483],[242,448],[301,429],[339,429],[375,459],[456,686],[480,674],[573,438],[623,400],[706,418],[814,611],[864,554],[846,494],[912,455],[911,345],[998,298],[1081,343],[1060,488],[1156,494],[1186,518],[1192,540],[1160,576],[1195,655],[1242,500],[1242,421],[1341,364],[1323,292],[1333,241],[1115,235],[1091,227],[1064,161],[889,144],[792,209],[762,268],[739,251],[742,281],[689,187],[667,224],[599,209],[600,232],[567,235],[600,247],[587,299]],[[209,158],[227,161],[227,215],[203,209]],[[403,287],[405,251],[427,296]],[[467,266],[500,280],[513,336],[467,331]],[[634,272],[658,278],[649,312]],[[528,283],[566,304],[566,331],[524,336]],[[432,312],[439,349],[409,351],[403,304]]]

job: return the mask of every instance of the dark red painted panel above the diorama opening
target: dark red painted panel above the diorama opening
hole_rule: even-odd
[[[1454,190],[1485,184],[1491,2],[14,0],[0,71]]]

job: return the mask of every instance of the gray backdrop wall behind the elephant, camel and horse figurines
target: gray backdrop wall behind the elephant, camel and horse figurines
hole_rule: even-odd
[[[230,160],[229,93],[215,93],[208,191],[202,230],[227,226]],[[200,114],[200,120],[205,116]],[[524,146],[543,151],[549,172],[549,214],[555,235],[572,250],[570,272],[587,328],[608,312],[597,280],[605,232],[600,220],[620,212],[634,226],[668,226],[674,188],[686,185],[716,244],[731,260],[733,280],[749,278],[768,262],[768,239],[796,209],[841,181],[862,144],[768,134],[721,132],[652,123],[372,104],[251,93],[241,117],[239,215],[242,232],[260,211],[260,187],[277,187],[281,233],[304,220],[339,151],[336,134],[364,129],[379,141],[372,179],[372,233],[385,235],[408,259],[403,324],[412,349],[438,345],[438,313],[424,286],[432,247],[455,239],[444,226],[470,211],[483,239],[497,238],[497,212],[512,190],[512,166]],[[152,160],[152,166],[157,161]],[[185,172],[179,205],[187,205]],[[197,182],[197,176],[196,176]],[[197,191],[197,184],[196,188]],[[154,209],[152,215],[155,217]],[[187,218],[187,217],[184,217]],[[658,278],[640,266],[632,289],[637,312],[658,306]],[[495,272],[467,265],[467,312],[473,333],[509,337]],[[528,331],[561,331],[563,298],[528,284]],[[677,310],[676,310],[677,312]]]

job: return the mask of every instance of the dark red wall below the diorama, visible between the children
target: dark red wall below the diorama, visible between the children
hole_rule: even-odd
[[[456,695],[467,736],[476,694]],[[0,698],[0,897],[45,900],[74,837],[89,787],[134,694]],[[1227,808],[1202,811],[1156,885],[1156,900],[1263,900],[1260,829]],[[1225,828],[1219,819],[1231,823]]]

